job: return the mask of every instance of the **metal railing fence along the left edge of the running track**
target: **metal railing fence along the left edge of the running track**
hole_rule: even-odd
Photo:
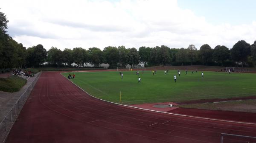
[[[29,87],[24,91],[22,95],[17,99],[12,108],[7,112],[5,118],[0,122],[0,143],[5,141],[6,136],[8,135],[12,125],[17,119],[23,105],[26,103],[27,98],[29,97],[32,89],[34,88],[38,78],[40,77],[41,72],[38,73],[38,76],[29,84]]]

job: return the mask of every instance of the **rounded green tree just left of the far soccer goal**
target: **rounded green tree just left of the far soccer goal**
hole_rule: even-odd
[[[105,47],[103,49],[105,62],[109,64],[109,68],[115,68],[119,62],[119,51],[116,47]]]

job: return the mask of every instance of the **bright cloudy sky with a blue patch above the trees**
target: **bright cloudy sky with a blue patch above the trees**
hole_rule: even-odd
[[[61,50],[167,45],[200,49],[256,40],[256,0],[5,0],[8,34]]]

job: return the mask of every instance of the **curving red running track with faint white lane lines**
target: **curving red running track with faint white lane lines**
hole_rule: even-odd
[[[255,136],[256,125],[210,121],[93,98],[57,72],[44,72],[6,143],[220,143],[221,133]],[[224,137],[224,143],[256,139]]]

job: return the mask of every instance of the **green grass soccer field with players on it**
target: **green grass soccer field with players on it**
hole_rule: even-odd
[[[69,73],[62,73],[65,77]],[[72,75],[73,73],[71,73]],[[173,76],[176,74],[177,82]],[[256,95],[256,75],[253,73],[204,72],[191,73],[181,70],[169,70],[164,75],[158,70],[152,76],[151,71],[140,71],[141,83],[135,71],[124,71],[121,79],[119,72],[83,72],[76,73],[71,79],[76,85],[97,98],[122,104],[142,104],[171,101],[188,101],[210,98],[230,98]]]

